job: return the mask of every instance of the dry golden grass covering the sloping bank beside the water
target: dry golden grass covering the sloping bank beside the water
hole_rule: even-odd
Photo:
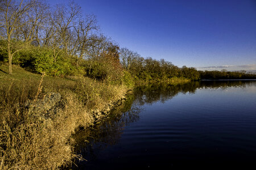
[[[93,124],[93,111],[104,110],[126,92],[122,86],[89,78],[53,78],[14,66],[0,66],[0,169],[57,169],[71,163],[72,133]],[[26,101],[48,92],[61,94],[56,114],[42,120],[28,114]]]

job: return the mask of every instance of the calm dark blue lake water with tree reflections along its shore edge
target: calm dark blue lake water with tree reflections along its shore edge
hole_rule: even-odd
[[[256,167],[256,81],[148,86],[76,134],[72,169]]]

